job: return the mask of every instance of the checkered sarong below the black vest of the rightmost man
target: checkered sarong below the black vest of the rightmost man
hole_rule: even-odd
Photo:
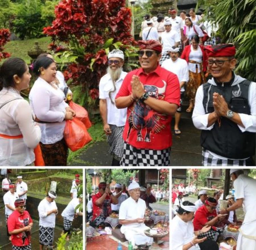
[[[249,164],[249,162],[251,162],[250,158],[246,160],[222,160],[214,157],[207,149],[204,148],[202,151],[202,157],[202,166],[251,166],[251,164]]]

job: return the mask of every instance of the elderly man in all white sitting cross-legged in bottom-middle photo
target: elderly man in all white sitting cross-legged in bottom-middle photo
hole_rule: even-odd
[[[119,210],[119,223],[122,225],[121,233],[131,242],[132,246],[146,244],[151,245],[153,238],[144,234],[149,229],[144,224],[146,203],[140,198],[140,185],[136,181],[128,187],[130,197],[125,200]]]

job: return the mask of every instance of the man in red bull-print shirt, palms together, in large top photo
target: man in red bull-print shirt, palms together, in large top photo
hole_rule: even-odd
[[[138,41],[141,68],[127,74],[116,96],[127,109],[122,166],[168,166],[172,146],[171,119],[180,105],[177,76],[159,66],[161,44]]]

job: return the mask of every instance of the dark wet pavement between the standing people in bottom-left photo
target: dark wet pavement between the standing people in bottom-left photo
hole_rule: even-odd
[[[54,229],[54,245],[56,244],[62,229],[55,227]],[[68,242],[67,242],[68,245]],[[31,230],[31,246],[33,250],[39,249],[39,221],[33,220],[33,227]],[[6,236],[6,224],[4,209],[0,209],[0,249],[1,250],[11,250],[12,244],[9,241],[8,236]]]

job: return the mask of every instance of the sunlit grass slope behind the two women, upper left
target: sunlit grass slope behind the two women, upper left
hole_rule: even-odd
[[[31,57],[29,57],[28,51],[34,47],[36,41],[38,41],[42,50],[49,52],[47,47],[51,43],[51,37],[9,41],[4,46],[4,51],[11,53],[11,56],[19,57],[23,59],[27,64],[30,64]]]

